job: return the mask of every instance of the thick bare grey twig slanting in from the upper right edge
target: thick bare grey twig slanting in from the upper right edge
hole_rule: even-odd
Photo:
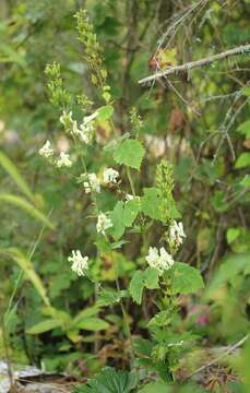
[[[211,64],[214,61],[223,60],[223,59],[226,59],[226,58],[228,58],[230,56],[235,56],[235,55],[242,55],[242,53],[246,53],[248,51],[250,51],[250,44],[241,45],[241,46],[239,46],[237,48],[229,49],[229,50],[226,50],[224,52],[213,55],[213,56],[210,56],[210,57],[201,59],[201,60],[190,61],[190,62],[187,62],[187,63],[184,63],[182,66],[170,67],[167,70],[156,72],[154,75],[150,75],[150,76],[146,76],[146,78],[140,80],[139,84],[152,82],[152,81],[158,80],[160,78],[170,75],[172,73],[176,74],[176,73],[179,73],[179,72],[189,71],[189,70],[191,70],[193,68],[207,66],[207,64]]]

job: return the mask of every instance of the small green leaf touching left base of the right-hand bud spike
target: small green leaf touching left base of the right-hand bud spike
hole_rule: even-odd
[[[155,187],[144,188],[144,195],[141,198],[142,212],[152,219],[162,219],[160,204],[162,199],[157,194]]]

